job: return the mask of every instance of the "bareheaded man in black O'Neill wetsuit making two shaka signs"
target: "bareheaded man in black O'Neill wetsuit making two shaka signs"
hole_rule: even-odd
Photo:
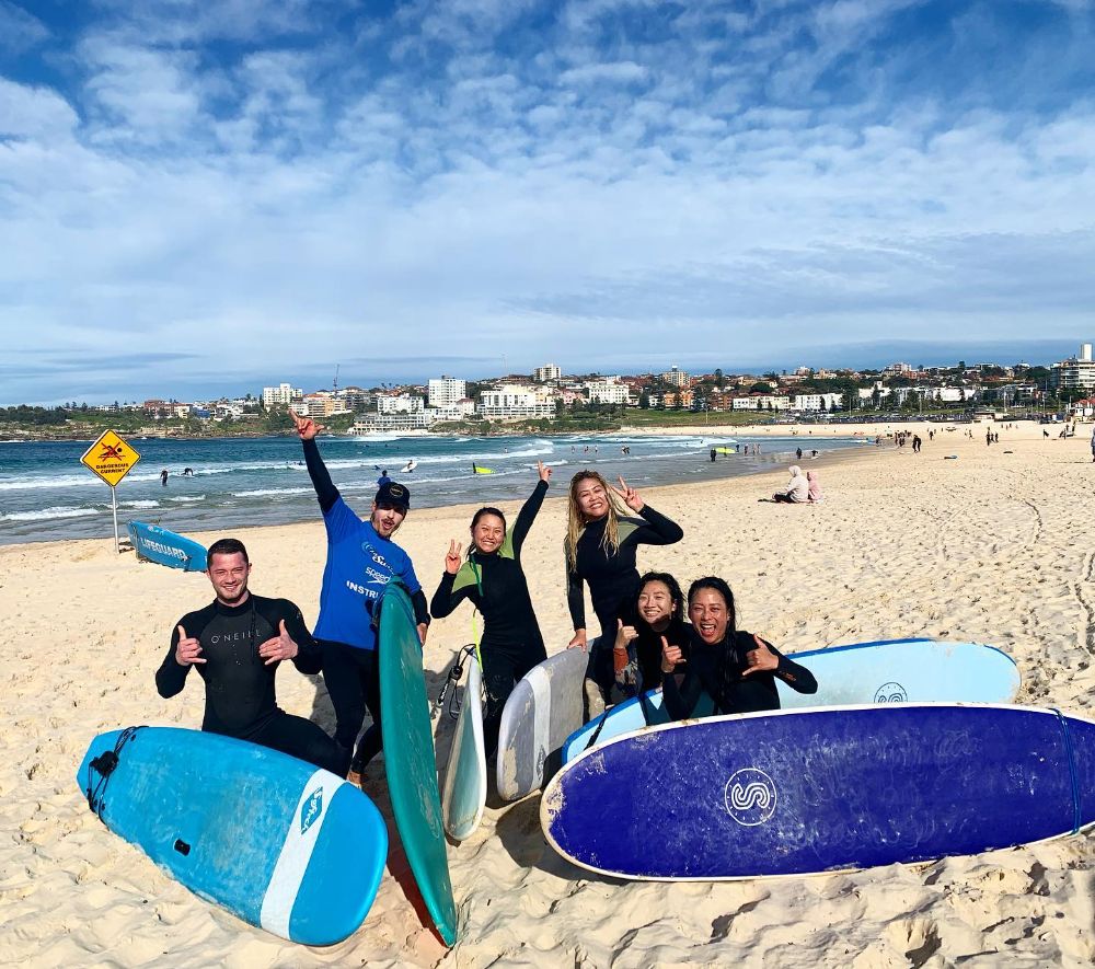
[[[278,707],[274,677],[284,659],[302,673],[320,671],[320,648],[288,599],[247,591],[251,563],[235,539],[209,549],[207,575],[217,598],[175,625],[155,672],[163,697],[181,693],[191,667],[205,681],[201,729],[280,750],[337,772],[345,757],[311,720]]]

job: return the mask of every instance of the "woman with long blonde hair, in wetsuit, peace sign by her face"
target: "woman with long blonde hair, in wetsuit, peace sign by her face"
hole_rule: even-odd
[[[625,517],[622,506],[641,517]],[[615,682],[612,637],[619,628],[616,621],[638,591],[638,546],[671,545],[683,537],[680,526],[655,511],[622,477],[619,488],[596,471],[579,471],[570,478],[565,543],[566,602],[574,623],[569,646],[589,651],[586,695],[590,716],[603,710]],[[592,642],[586,633],[583,582],[589,584],[601,630]]]

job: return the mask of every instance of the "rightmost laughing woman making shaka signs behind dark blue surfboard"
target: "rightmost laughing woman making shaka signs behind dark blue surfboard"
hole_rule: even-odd
[[[692,716],[700,694],[706,690],[716,714],[779,710],[776,679],[799,693],[816,693],[814,674],[783,656],[771,643],[736,627],[734,593],[717,576],[696,579],[688,590],[689,619],[684,649],[661,637],[662,696],[666,712],[675,720]],[[684,664],[680,685],[672,673]]]

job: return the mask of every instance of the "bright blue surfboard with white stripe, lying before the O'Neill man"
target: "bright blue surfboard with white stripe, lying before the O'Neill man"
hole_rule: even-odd
[[[380,811],[342,777],[275,750],[129,727],[91,741],[77,783],[115,834],[191,891],[281,938],[346,938],[380,886]]]

